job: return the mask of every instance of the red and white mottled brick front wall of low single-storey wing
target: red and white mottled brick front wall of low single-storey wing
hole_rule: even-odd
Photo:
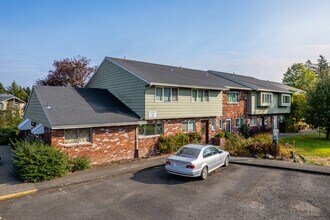
[[[87,156],[93,164],[132,159],[136,126],[92,128],[92,143],[64,144],[64,130],[52,130],[52,145],[69,157]]]

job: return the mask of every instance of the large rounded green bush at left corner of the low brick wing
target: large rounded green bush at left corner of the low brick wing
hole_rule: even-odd
[[[41,142],[13,143],[14,171],[23,182],[39,182],[62,176],[68,171],[67,156]]]

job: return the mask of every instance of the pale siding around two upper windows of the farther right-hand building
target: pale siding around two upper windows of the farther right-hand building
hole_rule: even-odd
[[[247,111],[250,115],[264,115],[264,114],[286,114],[290,113],[291,107],[280,107],[279,96],[280,93],[273,93],[273,103],[270,106],[261,107],[258,106],[258,92],[249,92]]]

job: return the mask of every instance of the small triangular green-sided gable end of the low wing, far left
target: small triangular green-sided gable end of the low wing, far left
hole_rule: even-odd
[[[28,102],[28,105],[26,106],[24,118],[28,118],[36,123],[41,123],[46,127],[51,127],[47,116],[43,110],[43,107],[39,102],[37,94],[34,91],[32,91],[30,100]]]

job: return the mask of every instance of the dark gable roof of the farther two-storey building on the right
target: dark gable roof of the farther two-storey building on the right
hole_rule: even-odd
[[[284,85],[279,82],[273,82],[269,80],[261,80],[251,76],[244,76],[234,73],[225,73],[214,70],[209,70],[208,72],[219,76],[221,78],[236,82],[238,84],[244,85],[246,87],[251,88],[252,90],[260,90],[260,91],[272,91],[272,92],[282,92],[282,93],[293,93],[294,91],[298,91],[294,87]]]

